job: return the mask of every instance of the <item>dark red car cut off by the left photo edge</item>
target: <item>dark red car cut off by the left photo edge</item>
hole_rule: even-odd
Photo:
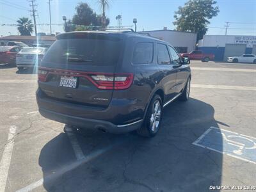
[[[15,65],[17,53],[21,50],[16,46],[0,46],[0,63]]]

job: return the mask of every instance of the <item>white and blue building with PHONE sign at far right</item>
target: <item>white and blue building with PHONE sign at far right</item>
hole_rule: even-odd
[[[215,60],[227,60],[229,56],[256,54],[256,36],[204,35],[198,42],[198,50],[215,54]]]

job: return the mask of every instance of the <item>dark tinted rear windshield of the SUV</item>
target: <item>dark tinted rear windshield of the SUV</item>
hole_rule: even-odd
[[[120,56],[121,40],[69,38],[56,40],[44,62],[81,64],[81,65],[116,65]]]

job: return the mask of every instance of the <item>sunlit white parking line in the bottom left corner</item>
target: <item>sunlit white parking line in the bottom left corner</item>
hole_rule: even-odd
[[[0,161],[0,192],[5,190],[9,167],[12,159],[13,138],[16,132],[16,126],[12,125],[9,130],[7,144],[4,147],[3,156]]]

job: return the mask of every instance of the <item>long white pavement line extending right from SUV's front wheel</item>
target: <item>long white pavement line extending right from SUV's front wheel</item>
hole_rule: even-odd
[[[218,85],[218,84],[191,84],[193,88],[213,88],[221,90],[246,90],[256,91],[255,86],[231,86],[231,85]]]

